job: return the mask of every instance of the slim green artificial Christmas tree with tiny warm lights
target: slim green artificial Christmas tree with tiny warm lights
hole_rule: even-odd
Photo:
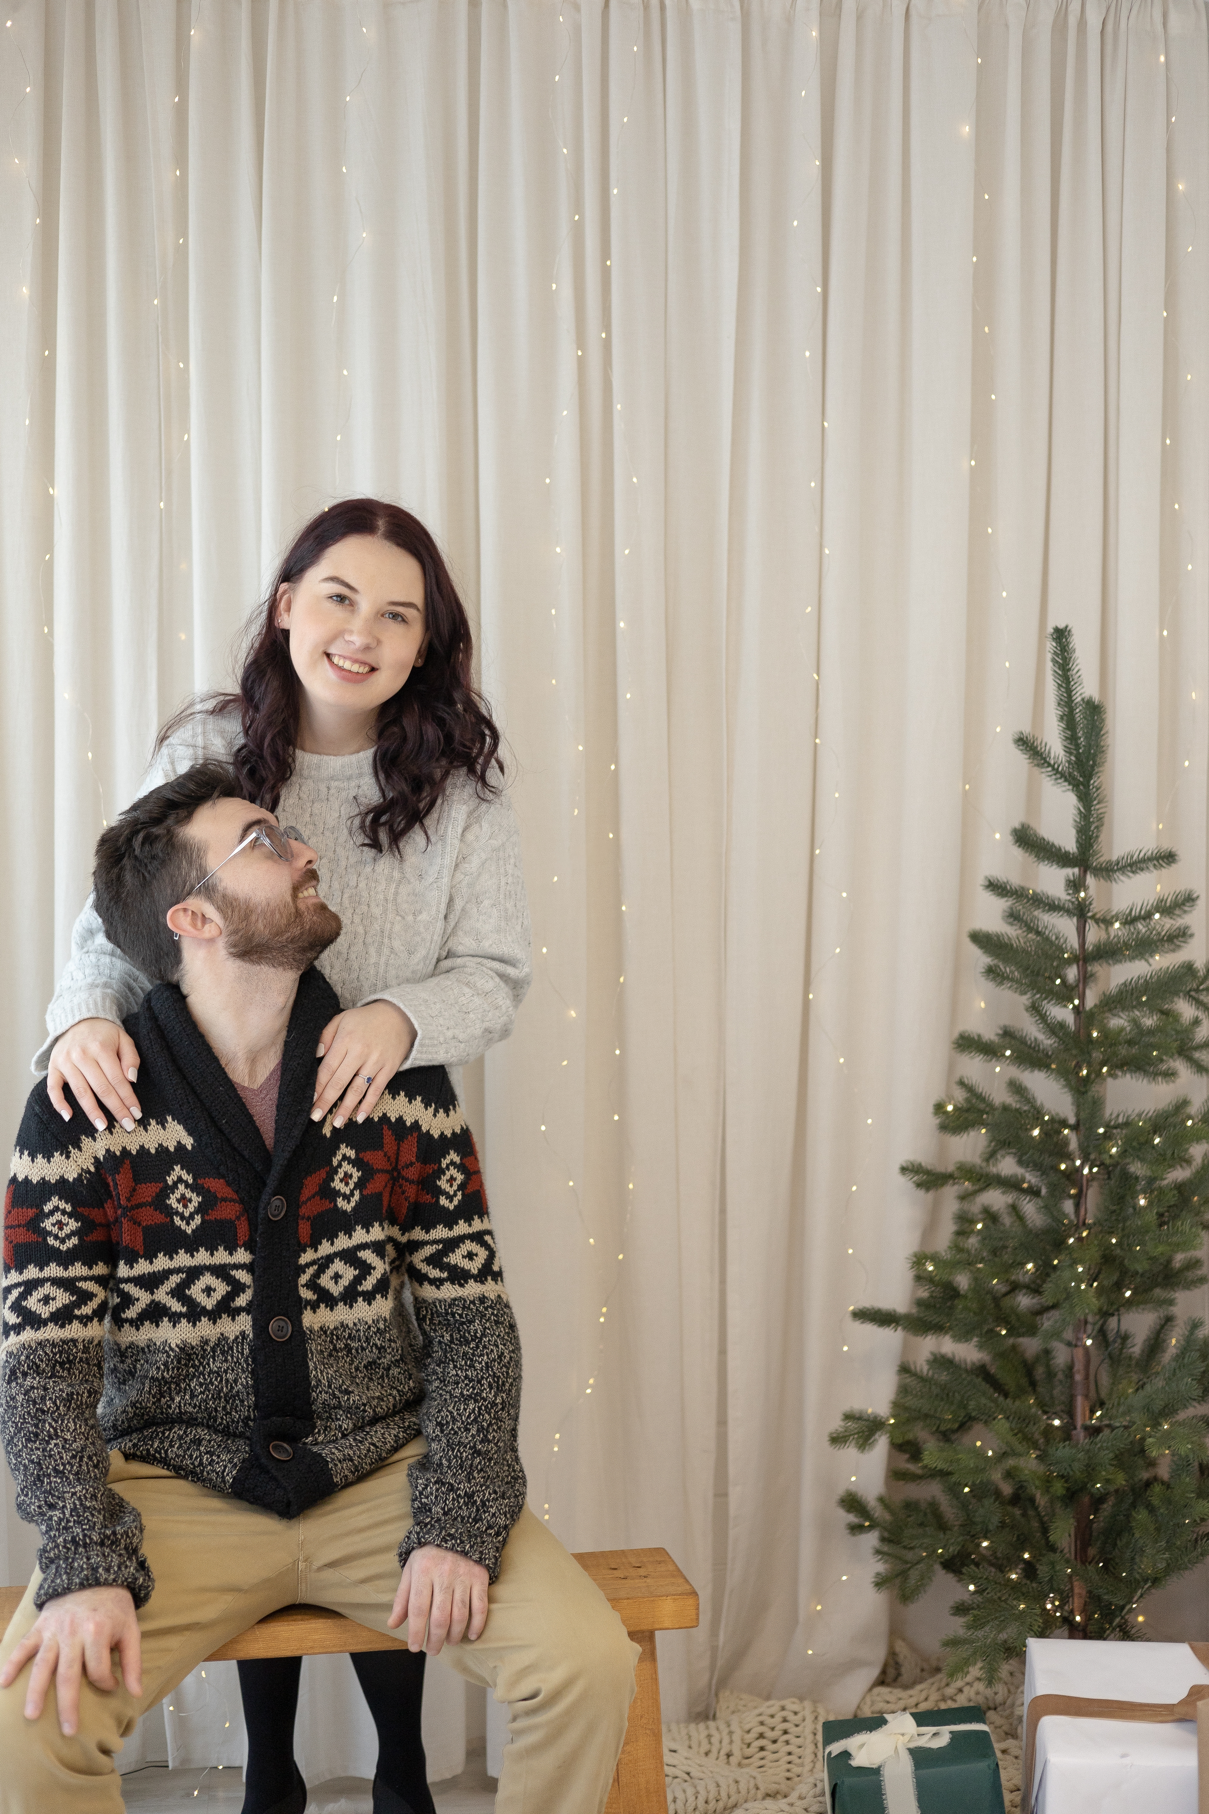
[[[912,1495],[845,1493],[848,1529],[875,1533],[877,1585],[903,1602],[937,1567],[961,1582],[950,1667],[979,1663],[991,1682],[1030,1636],[1142,1636],[1142,1598],[1209,1549],[1209,1339],[1173,1313],[1204,1281],[1209,1105],[1126,1101],[1129,1079],[1209,1070],[1209,967],[1176,956],[1189,889],[1111,905],[1176,856],[1104,853],[1104,706],[1082,689],[1069,629],[1049,653],[1060,751],[1028,733],[1015,747],[1071,795],[1071,840],[1031,825],[1011,840],[1062,880],[988,880],[1004,931],[970,934],[1022,1023],[953,1041],[993,1068],[962,1076],[935,1119],[977,1152],[903,1166],[919,1190],[955,1192],[952,1237],[912,1257],[908,1312],[854,1312],[948,1348],[899,1366],[885,1417],[848,1411],[830,1439],[890,1437]]]

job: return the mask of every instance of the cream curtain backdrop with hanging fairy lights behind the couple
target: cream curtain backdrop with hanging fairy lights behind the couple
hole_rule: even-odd
[[[995,1023],[1051,622],[1113,836],[1205,887],[1202,0],[4,18],[5,1125],[156,726],[306,513],[401,499],[515,753],[537,969],[475,1114],[531,1502],[700,1585],[667,1716],[845,1711],[886,1457],[827,1431],[899,1359],[848,1308],[906,1301],[897,1165]],[[11,1489],[7,1535],[20,1578]]]

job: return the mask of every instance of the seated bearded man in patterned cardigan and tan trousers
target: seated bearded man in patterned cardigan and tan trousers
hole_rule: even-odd
[[[141,1121],[60,1119],[38,1085],[13,1156],[0,1431],[42,1547],[0,1643],[4,1814],[112,1814],[138,1716],[294,1602],[448,1642],[509,1702],[498,1809],[604,1809],[636,1651],[524,1506],[517,1326],[446,1072],[310,1119],[337,1012],[310,965],[341,931],[317,883],[219,764],[98,844],[105,932],[160,983],[127,1021]]]

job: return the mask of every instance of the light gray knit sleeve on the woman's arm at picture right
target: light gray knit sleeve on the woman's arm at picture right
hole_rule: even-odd
[[[404,1068],[468,1065],[513,1030],[531,976],[517,814],[508,795],[475,795],[453,856],[433,974],[364,1000],[393,1001],[415,1025]]]

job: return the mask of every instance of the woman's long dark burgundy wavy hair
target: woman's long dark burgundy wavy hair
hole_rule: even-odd
[[[237,693],[192,700],[160,731],[156,751],[190,718],[239,707],[243,742],[230,764],[248,800],[277,811],[294,773],[301,686],[290,660],[290,631],[277,619],[277,591],[310,571],[346,535],[377,535],[413,555],[424,573],[424,662],[377,713],[373,778],[381,798],[357,816],[359,842],[372,851],[401,842],[424,825],[455,769],[466,769],[486,798],[498,793],[491,771],[504,771],[500,733],[469,677],[473,639],[457,586],[424,524],[399,504],[346,497],[312,517],[294,537],[247,631]],[[424,836],[428,829],[424,827]]]

